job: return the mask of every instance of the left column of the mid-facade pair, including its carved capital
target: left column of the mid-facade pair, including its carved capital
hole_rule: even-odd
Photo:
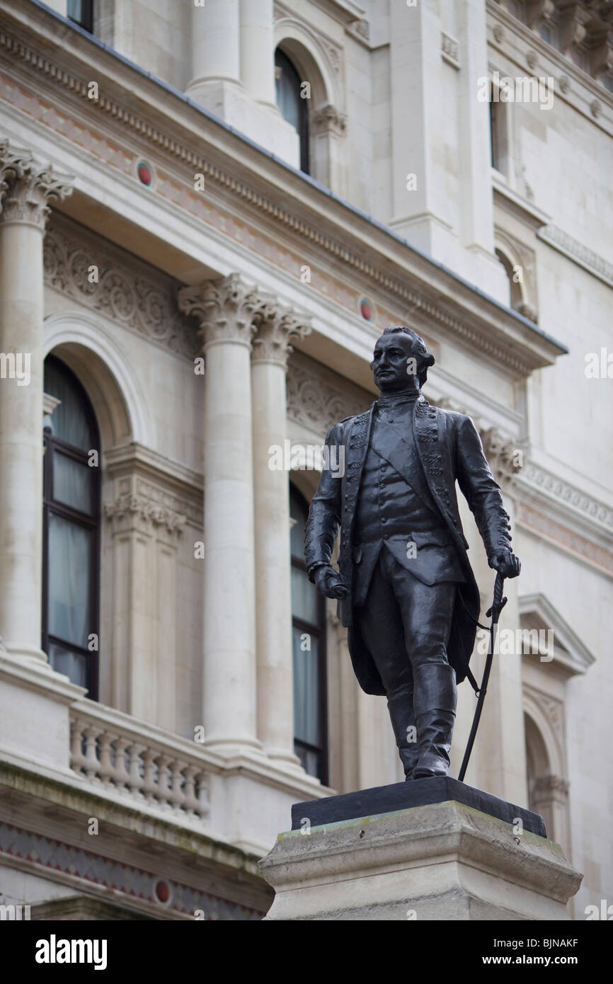
[[[205,741],[221,751],[256,738],[256,634],[251,340],[260,300],[237,274],[184,287],[206,355]]]

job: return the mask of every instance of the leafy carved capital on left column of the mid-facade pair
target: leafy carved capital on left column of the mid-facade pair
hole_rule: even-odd
[[[200,322],[204,348],[216,341],[233,341],[251,347],[256,331],[254,315],[263,305],[255,286],[238,274],[182,287],[179,308]]]

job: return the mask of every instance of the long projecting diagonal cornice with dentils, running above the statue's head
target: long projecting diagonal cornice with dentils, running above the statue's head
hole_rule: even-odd
[[[2,0],[0,9],[3,7],[5,12],[11,8],[13,18],[17,16],[7,0]],[[36,14],[42,17],[38,10]],[[187,175],[203,173],[210,203],[215,202],[215,196],[225,196],[241,210],[243,220],[249,214],[254,221],[255,216],[262,216],[291,236],[294,244],[297,238],[301,250],[306,244],[309,250],[327,254],[326,264],[334,261],[344,277],[355,281],[356,289],[363,289],[368,278],[371,283],[367,289],[376,289],[384,303],[423,319],[494,359],[512,375],[528,375],[535,368],[552,364],[565,351],[527,319],[240,137],[182,93],[81,35],[77,51],[74,43],[71,46],[67,42],[72,38],[66,29],[61,43],[56,38],[53,45],[53,31],[48,24],[45,28],[44,50],[40,50],[40,33],[34,33],[33,39],[29,36],[28,41],[18,36],[20,32],[32,34],[23,24],[0,31],[0,46],[13,56],[10,71],[22,80],[25,74],[43,74],[52,87],[57,87],[55,92],[63,92],[64,102],[81,103],[85,108],[87,100],[90,127],[106,128],[117,134],[116,139],[120,136],[117,128],[124,133],[128,128],[133,139],[156,149],[163,168],[171,160],[180,164],[182,199],[190,194],[193,197]],[[88,56],[92,67],[86,74]],[[63,65],[55,64],[54,57]],[[97,100],[88,99],[87,83],[92,73],[100,80]],[[196,150],[199,147],[206,148],[207,157]],[[225,163],[228,158],[236,163],[231,170]],[[178,207],[184,206],[179,202]],[[376,302],[378,299],[375,297]]]

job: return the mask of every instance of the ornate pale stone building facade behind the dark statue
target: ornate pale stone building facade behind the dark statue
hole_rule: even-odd
[[[466,780],[542,813],[575,918],[613,902],[611,31],[567,0],[0,0],[0,903],[259,919],[290,805],[400,778],[299,546],[389,324],[522,562]]]

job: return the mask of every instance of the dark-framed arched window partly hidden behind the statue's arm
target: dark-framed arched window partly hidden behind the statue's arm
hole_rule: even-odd
[[[304,563],[308,506],[289,486],[291,610],[294,679],[294,751],[304,769],[328,783],[326,609]]]

